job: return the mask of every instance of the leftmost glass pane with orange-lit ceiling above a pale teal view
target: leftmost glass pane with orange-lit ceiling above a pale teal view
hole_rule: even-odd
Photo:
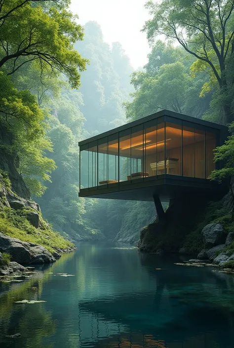
[[[108,137],[108,184],[118,182],[118,135]]]

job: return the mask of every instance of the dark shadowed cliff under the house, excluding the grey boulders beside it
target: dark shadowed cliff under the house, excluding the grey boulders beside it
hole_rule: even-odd
[[[234,180],[231,180],[234,192]],[[142,229],[138,247],[145,252],[180,252],[197,255],[206,249],[202,231],[209,224],[220,224],[225,237],[234,231],[232,190],[221,200],[208,201],[205,196],[188,195],[171,200],[165,221],[156,219]],[[220,248],[222,251],[224,246]]]

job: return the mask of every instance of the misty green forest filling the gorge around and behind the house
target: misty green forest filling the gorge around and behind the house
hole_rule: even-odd
[[[169,109],[229,126],[215,153],[226,164],[210,179],[231,177],[234,2],[148,1],[151,52],[136,71],[119,42],[105,42],[96,22],[79,25],[69,5],[0,1],[0,151],[55,231],[137,243],[154,204],[78,197],[78,142]]]

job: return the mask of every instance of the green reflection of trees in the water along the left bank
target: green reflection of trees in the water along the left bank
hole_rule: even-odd
[[[44,303],[27,305],[16,304],[15,302],[25,299],[39,300],[43,284],[53,276],[49,272],[56,272],[56,269],[61,267],[61,264],[66,264],[72,257],[72,253],[64,254],[53,265],[41,265],[41,267],[37,268],[32,278],[25,279],[22,283],[1,285],[0,347],[7,347],[7,344],[10,345],[9,347],[17,347],[17,340],[12,342],[4,338],[6,335],[20,333],[20,340],[24,342],[25,347],[41,348],[43,347],[43,339],[55,334],[56,324],[52,319],[52,311],[47,310]],[[46,348],[52,347],[54,347],[52,343],[46,345]]]

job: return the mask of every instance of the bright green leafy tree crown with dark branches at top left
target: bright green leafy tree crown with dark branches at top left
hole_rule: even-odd
[[[57,4],[43,8],[35,3]],[[66,9],[70,1],[0,1],[0,69],[12,75],[24,64],[38,60],[43,72],[64,73],[72,85],[79,86],[79,71],[87,60],[73,48],[83,39],[76,16]]]

